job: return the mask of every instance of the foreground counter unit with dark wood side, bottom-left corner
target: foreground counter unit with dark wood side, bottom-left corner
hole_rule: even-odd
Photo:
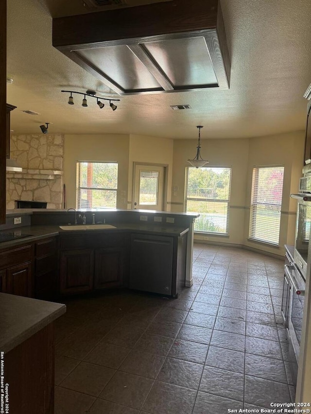
[[[53,322],[65,312],[59,303],[0,293],[4,413],[54,413]]]

